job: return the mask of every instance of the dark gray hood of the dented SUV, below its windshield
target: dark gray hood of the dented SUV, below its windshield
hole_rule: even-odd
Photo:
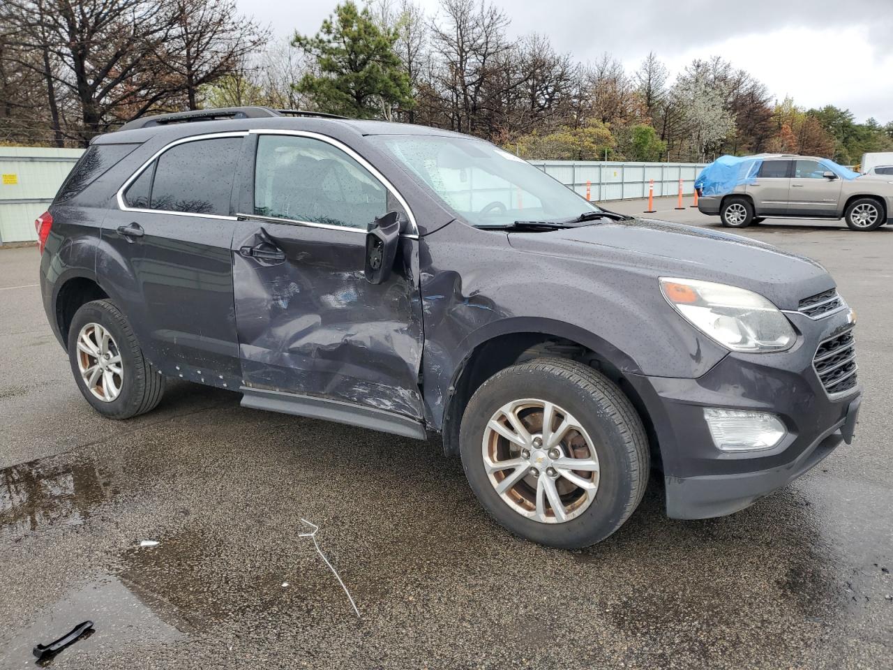
[[[680,223],[633,219],[567,230],[512,232],[512,247],[657,277],[719,281],[755,291],[780,309],[834,288],[822,265],[754,239]]]

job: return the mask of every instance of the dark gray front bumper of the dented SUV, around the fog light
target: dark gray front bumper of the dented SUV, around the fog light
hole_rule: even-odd
[[[793,481],[852,440],[861,388],[829,397],[813,368],[819,343],[852,327],[848,311],[813,321],[788,313],[797,343],[777,354],[730,353],[698,379],[638,376],[660,447],[667,514],[698,519],[726,515]],[[772,412],[788,434],[772,449],[724,452],[704,420],[704,407]]]

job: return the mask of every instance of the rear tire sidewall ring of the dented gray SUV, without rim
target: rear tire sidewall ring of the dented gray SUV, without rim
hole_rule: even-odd
[[[81,306],[74,314],[74,318],[71,319],[71,326],[68,332],[68,358],[71,365],[71,373],[74,375],[81,394],[99,414],[113,418],[132,415],[136,409],[134,406],[138,405],[138,398],[142,397],[142,385],[145,383],[145,380],[138,375],[138,361],[136,359],[138,352],[134,352],[130,347],[129,333],[125,332],[124,324],[119,321],[123,317],[120,314],[114,314],[108,308],[110,304],[106,303],[103,305],[103,302],[96,301]],[[108,330],[118,346],[118,351],[121,353],[121,365],[124,373],[121,393],[112,402],[104,402],[96,398],[80,375],[78,367],[78,336],[80,330],[88,323],[98,323]]]

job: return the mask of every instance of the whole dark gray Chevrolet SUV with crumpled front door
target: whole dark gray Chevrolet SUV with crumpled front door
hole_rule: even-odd
[[[96,138],[37,227],[46,314],[100,414],[147,412],[172,378],[440,435],[543,544],[604,540],[652,469],[668,515],[725,515],[853,437],[854,317],[819,264],[603,210],[480,139],[148,117]]]

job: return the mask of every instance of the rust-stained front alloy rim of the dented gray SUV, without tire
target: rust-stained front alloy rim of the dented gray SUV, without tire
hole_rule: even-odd
[[[487,423],[482,456],[506,505],[539,523],[565,523],[596,498],[598,456],[568,411],[527,398],[500,407]]]

